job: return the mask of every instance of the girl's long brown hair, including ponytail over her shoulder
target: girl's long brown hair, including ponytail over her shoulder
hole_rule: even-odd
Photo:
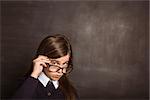
[[[64,35],[53,35],[53,36],[47,36],[45,39],[42,40],[42,42],[39,45],[39,48],[37,49],[36,57],[38,55],[44,55],[49,58],[60,58],[65,55],[69,54],[69,66],[73,68],[72,63],[72,48],[70,45],[69,40]],[[71,82],[68,79],[68,75],[64,74],[59,79],[60,89],[63,91],[66,100],[75,100],[76,98],[76,90],[71,84]]]

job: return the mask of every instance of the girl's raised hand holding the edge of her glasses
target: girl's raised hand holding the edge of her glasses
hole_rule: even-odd
[[[33,71],[31,76],[34,78],[38,78],[40,73],[43,70],[43,67],[47,67],[46,63],[50,63],[48,57],[39,55],[36,59],[33,60]]]

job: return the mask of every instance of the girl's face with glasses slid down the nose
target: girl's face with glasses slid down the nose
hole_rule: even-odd
[[[52,80],[59,80],[68,67],[69,54],[57,59],[50,59],[50,67],[44,68],[45,74]]]

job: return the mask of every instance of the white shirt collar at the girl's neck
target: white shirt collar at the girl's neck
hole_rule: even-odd
[[[43,84],[44,87],[46,87],[46,85],[47,85],[47,83],[49,81],[52,81],[52,83],[54,84],[55,89],[57,89],[58,86],[59,86],[59,82],[58,81],[51,80],[43,72],[39,75],[38,80]]]

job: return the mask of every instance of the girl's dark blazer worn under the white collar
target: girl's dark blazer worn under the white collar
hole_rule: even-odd
[[[18,100],[65,100],[60,87],[55,89],[52,83],[44,87],[38,79],[31,76],[23,82],[13,98],[18,98]]]

